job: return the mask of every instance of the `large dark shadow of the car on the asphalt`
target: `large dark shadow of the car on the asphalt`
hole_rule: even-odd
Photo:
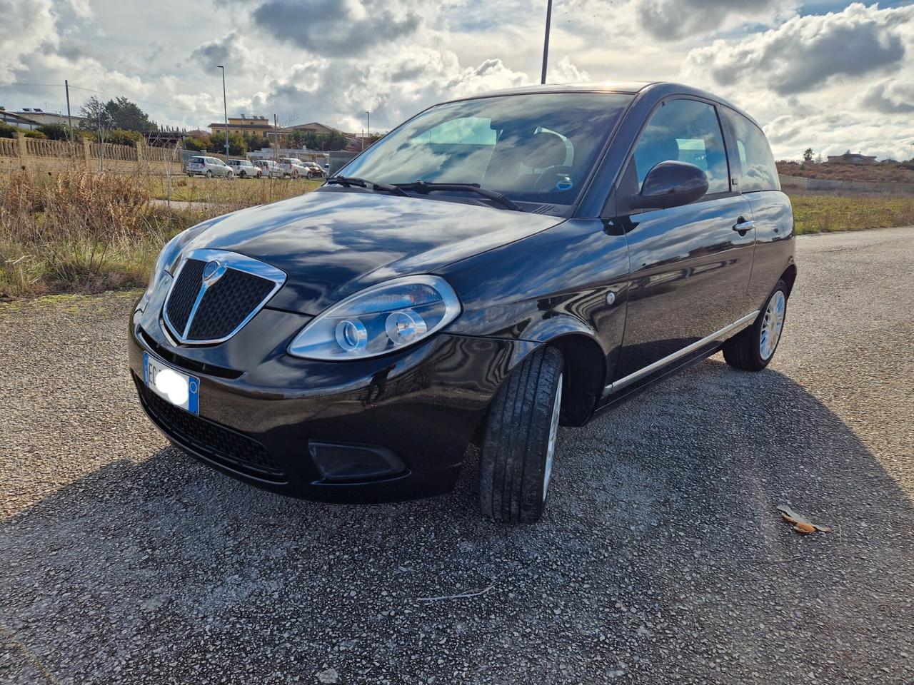
[[[452,494],[384,505],[137,458],[0,524],[0,676],[914,679],[909,495],[774,370],[712,359],[563,429],[532,526],[479,517],[472,449]],[[834,532],[792,532],[782,503]]]

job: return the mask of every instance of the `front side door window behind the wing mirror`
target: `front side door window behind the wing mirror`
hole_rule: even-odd
[[[714,107],[697,100],[667,100],[654,111],[634,149],[638,187],[654,165],[667,160],[702,169],[708,193],[730,189],[724,136]]]

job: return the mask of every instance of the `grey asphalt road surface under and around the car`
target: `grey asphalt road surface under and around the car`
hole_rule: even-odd
[[[801,237],[771,368],[563,429],[514,529],[473,460],[395,505],[228,479],[141,414],[126,297],[4,305],[0,682],[914,682],[912,243]]]

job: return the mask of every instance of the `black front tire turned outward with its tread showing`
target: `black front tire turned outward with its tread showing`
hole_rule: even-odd
[[[548,497],[549,437],[558,427],[553,407],[561,404],[562,367],[557,349],[539,349],[495,395],[479,468],[484,516],[505,523],[533,523],[542,516]]]

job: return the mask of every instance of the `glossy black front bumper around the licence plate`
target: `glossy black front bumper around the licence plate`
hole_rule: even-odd
[[[535,343],[438,334],[402,353],[316,362],[285,353],[308,320],[262,310],[234,338],[175,345],[151,302],[134,315],[129,358],[141,404],[169,439],[261,488],[319,501],[399,501],[451,490],[473,431],[505,375]],[[266,352],[264,352],[266,351]],[[200,379],[199,416],[143,385],[143,353]],[[380,477],[325,478],[314,446],[396,455]]]

